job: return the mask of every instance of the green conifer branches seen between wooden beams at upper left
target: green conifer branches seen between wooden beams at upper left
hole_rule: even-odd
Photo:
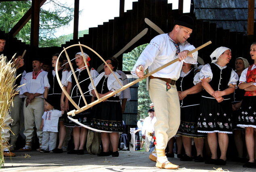
[[[30,7],[31,1],[0,2],[0,30],[8,33]],[[60,46],[63,38],[56,38],[54,34],[57,28],[69,25],[74,9],[58,0],[48,0],[42,7],[45,8],[40,8],[39,46]],[[29,20],[15,37],[29,44],[30,28]]]

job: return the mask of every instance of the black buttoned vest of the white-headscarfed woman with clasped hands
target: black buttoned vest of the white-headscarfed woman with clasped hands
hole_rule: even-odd
[[[217,65],[215,65],[214,63],[210,64],[210,67],[212,69],[212,80],[211,82],[209,82],[210,86],[212,87],[212,89],[214,91],[223,91],[225,89],[227,89],[228,83],[229,83],[229,79],[231,76],[231,73],[233,71],[233,69],[231,67],[226,67],[225,69],[220,69]],[[210,95],[206,90],[203,90],[203,94],[202,96],[206,96],[206,97],[211,97],[212,95]],[[231,96],[229,95],[225,95],[222,96],[224,99],[229,99]]]

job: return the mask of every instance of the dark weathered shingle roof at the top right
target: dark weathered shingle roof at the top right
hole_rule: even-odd
[[[248,0],[193,0],[195,17],[217,27],[247,34]],[[254,7],[254,21],[256,9]]]

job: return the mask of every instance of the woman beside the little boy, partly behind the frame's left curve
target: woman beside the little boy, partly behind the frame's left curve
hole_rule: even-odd
[[[51,100],[53,102],[59,102],[56,103],[55,109],[61,111],[64,110],[64,105],[65,105],[65,94],[61,90],[61,87],[59,86],[59,83],[56,78],[56,71],[55,67],[56,65],[58,66],[58,74],[59,78],[61,78],[61,83],[63,84],[63,88],[67,88],[67,76],[68,76],[68,71],[67,69],[64,69],[61,67],[63,65],[63,57],[60,56],[59,58],[59,63],[57,64],[57,59],[59,57],[59,53],[56,53],[52,55],[52,67],[54,68],[52,71],[48,72],[47,78],[49,80],[50,84],[50,89],[48,90],[48,96],[46,96],[46,99]],[[62,146],[63,141],[65,139],[66,135],[66,129],[64,126],[64,121],[65,116],[63,115],[62,117],[59,118],[59,145]],[[59,148],[59,147],[58,147]],[[60,149],[53,149],[52,151],[55,153],[62,153],[62,147]]]

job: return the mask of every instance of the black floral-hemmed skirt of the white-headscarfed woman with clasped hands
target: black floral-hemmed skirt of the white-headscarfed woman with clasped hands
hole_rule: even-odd
[[[232,104],[231,100],[220,103],[216,99],[201,98],[198,132],[220,132],[232,134]]]

